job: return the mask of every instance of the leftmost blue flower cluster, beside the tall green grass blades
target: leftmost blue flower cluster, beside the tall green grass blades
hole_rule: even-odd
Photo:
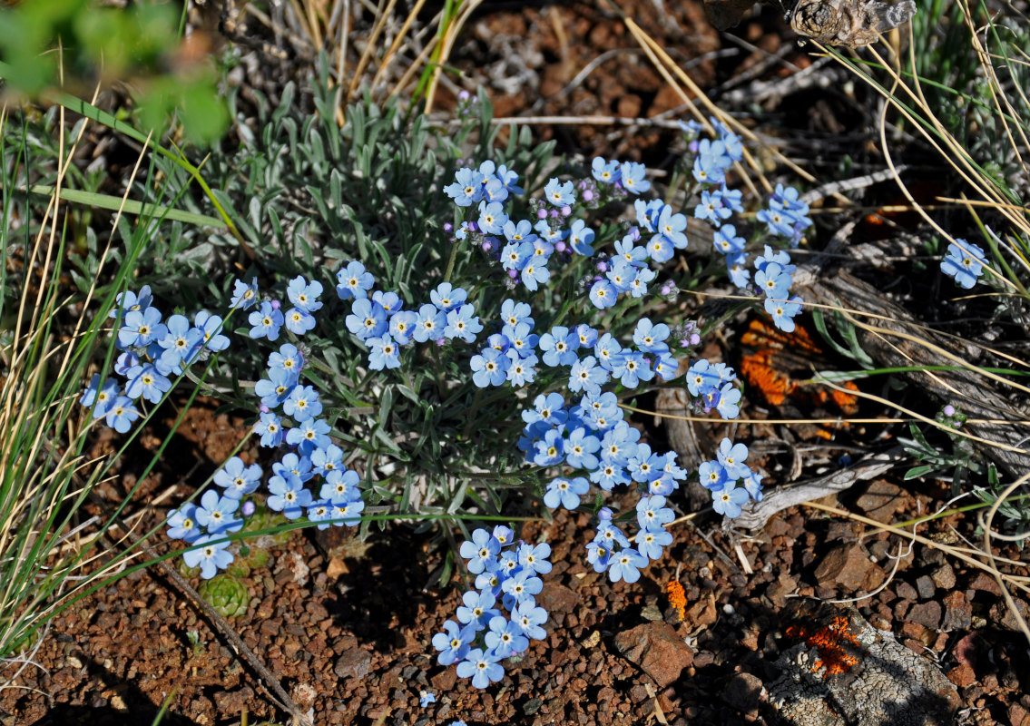
[[[149,285],[139,293],[127,290],[117,296],[117,307],[108,316],[121,322],[114,345],[122,351],[114,373],[123,380],[94,374],[79,403],[91,408],[93,418],[104,418],[108,426],[125,434],[140,417],[137,403],[160,404],[171,389],[173,376],[184,368],[207,359],[212,352],[229,347],[221,335],[222,319],[202,310],[193,323],[185,315],[164,318],[152,306]]]

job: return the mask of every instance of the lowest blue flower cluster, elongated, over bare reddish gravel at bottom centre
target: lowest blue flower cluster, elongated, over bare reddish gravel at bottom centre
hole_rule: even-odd
[[[547,611],[534,595],[543,588],[537,576],[551,572],[551,547],[515,542],[511,529],[496,526],[492,533],[476,529],[459,552],[469,560],[476,587],[462,595],[457,623],[446,621],[443,632],[434,635],[433,647],[440,652],[437,662],[457,663],[459,678],[486,688],[505,675],[502,660],[524,653],[530,639],[547,634],[542,627]]]

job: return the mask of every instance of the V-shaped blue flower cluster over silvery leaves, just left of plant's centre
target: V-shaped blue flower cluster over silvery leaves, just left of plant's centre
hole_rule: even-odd
[[[407,345],[426,341],[443,345],[455,339],[474,343],[483,330],[475,307],[466,302],[469,293],[449,282],[441,282],[430,293],[432,303],[415,312],[402,307],[397,292],[373,290],[375,279],[358,262],[341,268],[336,277],[337,296],[353,301],[344,322],[368,346],[373,371],[400,368],[401,348]]]

